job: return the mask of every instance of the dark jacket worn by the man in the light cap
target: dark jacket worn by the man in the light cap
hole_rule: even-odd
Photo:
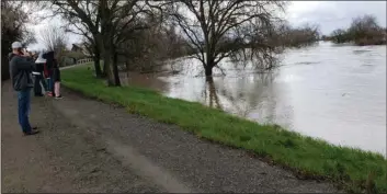
[[[26,57],[9,54],[10,75],[12,85],[15,91],[23,91],[33,88],[32,71],[35,69],[35,64]]]

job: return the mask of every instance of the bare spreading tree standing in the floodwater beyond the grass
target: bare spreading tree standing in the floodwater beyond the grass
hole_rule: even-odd
[[[226,57],[247,47],[250,56],[270,48],[260,34],[270,33],[274,13],[283,7],[281,1],[180,0],[173,3],[171,16],[190,39],[205,76],[210,77]]]

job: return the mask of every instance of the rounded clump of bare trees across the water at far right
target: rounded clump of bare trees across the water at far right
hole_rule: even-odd
[[[325,41],[332,41],[337,44],[354,43],[358,46],[384,45],[387,43],[387,30],[379,26],[373,15],[357,16],[352,20],[349,28],[338,28]]]

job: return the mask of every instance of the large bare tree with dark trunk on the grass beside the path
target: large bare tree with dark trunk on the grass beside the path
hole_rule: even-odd
[[[61,15],[71,23],[81,24],[81,28],[84,30],[81,34],[88,34],[86,37],[93,39],[103,55],[109,85],[121,85],[117,45],[127,38],[127,33],[144,27],[136,25],[138,19],[160,10],[160,5],[152,5],[148,1],[140,0],[55,0],[49,3],[55,14]]]

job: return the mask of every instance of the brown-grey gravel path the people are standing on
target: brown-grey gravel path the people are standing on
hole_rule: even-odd
[[[61,100],[33,98],[36,136],[21,135],[9,83],[1,103],[2,192],[337,192],[66,90]]]

